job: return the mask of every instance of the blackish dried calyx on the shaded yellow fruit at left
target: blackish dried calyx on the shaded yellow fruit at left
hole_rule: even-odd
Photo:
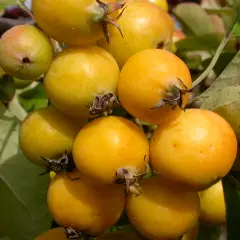
[[[64,154],[58,159],[49,159],[45,157],[41,158],[46,162],[44,166],[46,171],[41,173],[40,176],[45,175],[51,171],[55,173],[66,173],[72,172],[75,169],[75,163],[73,161],[72,154],[68,153],[67,150],[65,150]]]

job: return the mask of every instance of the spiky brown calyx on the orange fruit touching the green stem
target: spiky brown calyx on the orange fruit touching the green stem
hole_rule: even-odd
[[[185,110],[183,107],[183,96],[187,93],[192,92],[192,89],[188,89],[187,86],[183,83],[183,81],[179,78],[178,82],[181,86],[177,86],[175,84],[172,85],[169,90],[167,90],[165,97],[161,99],[159,103],[151,109],[162,108],[166,104],[168,104],[172,107],[172,109],[179,106],[182,110]]]

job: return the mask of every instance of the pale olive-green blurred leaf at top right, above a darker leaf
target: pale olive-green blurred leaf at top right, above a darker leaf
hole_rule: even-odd
[[[197,36],[214,33],[210,17],[206,11],[196,3],[181,3],[174,9],[175,16]]]

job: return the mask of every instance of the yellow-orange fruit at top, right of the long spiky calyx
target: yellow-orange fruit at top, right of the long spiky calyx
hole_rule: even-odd
[[[174,31],[171,17],[155,4],[148,1],[130,1],[126,6],[117,21],[124,37],[116,27],[109,26],[109,44],[104,38],[98,42],[111,53],[120,68],[131,56],[142,50],[171,49]]]

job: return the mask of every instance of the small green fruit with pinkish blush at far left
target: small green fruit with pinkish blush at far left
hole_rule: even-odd
[[[31,25],[15,26],[0,39],[0,66],[13,77],[23,80],[40,77],[49,69],[52,57],[50,40]]]

